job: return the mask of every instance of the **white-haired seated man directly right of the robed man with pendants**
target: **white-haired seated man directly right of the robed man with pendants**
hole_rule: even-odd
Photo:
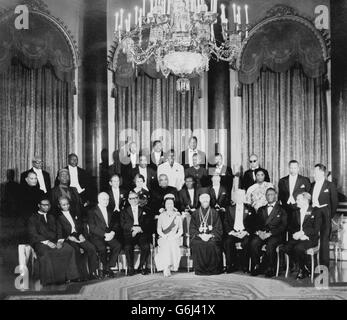
[[[226,257],[227,273],[237,271],[239,266],[244,272],[248,272],[248,245],[252,234],[252,219],[254,209],[245,204],[245,190],[238,189],[234,194],[234,203],[228,206],[223,222],[224,233],[224,250]],[[237,263],[236,243],[241,245],[241,259]]]

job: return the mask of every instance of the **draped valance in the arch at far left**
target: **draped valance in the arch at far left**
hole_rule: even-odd
[[[55,75],[63,81],[74,80],[74,53],[66,35],[47,17],[29,11],[29,28],[15,28],[11,14],[0,19],[0,73],[5,72],[12,59],[28,68],[51,65]]]

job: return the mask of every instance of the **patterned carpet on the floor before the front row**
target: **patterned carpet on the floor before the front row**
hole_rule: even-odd
[[[294,287],[277,279],[241,274],[195,276],[177,273],[119,277],[82,287],[77,294],[25,294],[10,300],[346,300],[347,287],[318,290],[312,286]]]

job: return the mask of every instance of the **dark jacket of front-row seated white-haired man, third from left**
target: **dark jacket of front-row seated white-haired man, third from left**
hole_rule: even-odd
[[[95,206],[88,212],[88,225],[89,233],[92,237],[104,239],[105,233],[114,231],[115,238],[121,238],[120,218],[119,214],[113,214],[112,211],[107,210],[108,214],[108,227],[99,206]]]

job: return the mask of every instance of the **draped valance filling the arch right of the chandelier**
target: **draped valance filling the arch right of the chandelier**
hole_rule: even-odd
[[[323,36],[301,17],[272,17],[250,32],[239,61],[239,80],[250,84],[260,70],[285,72],[301,65],[307,77],[318,78],[326,72],[327,49]]]

